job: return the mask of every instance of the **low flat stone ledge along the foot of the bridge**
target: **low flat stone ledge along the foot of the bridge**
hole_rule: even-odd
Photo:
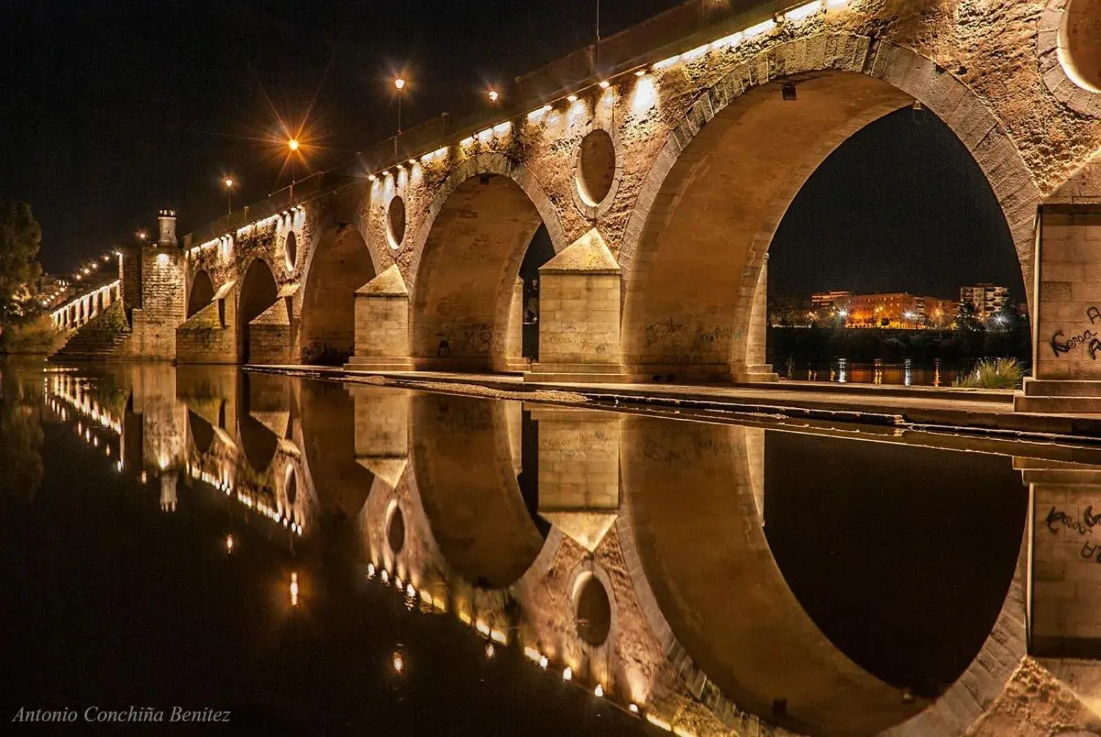
[[[1078,443],[1101,444],[1101,414],[1014,412],[1014,392],[1010,390],[804,381],[741,386],[559,383],[523,381],[519,375],[509,373],[366,372],[324,366],[248,366],[246,369],[533,402],[663,408],[716,415],[764,414],[877,426],[935,427],[1048,442],[1066,437]]]

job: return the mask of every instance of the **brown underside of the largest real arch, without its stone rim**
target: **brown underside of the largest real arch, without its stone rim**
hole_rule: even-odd
[[[764,253],[799,188],[848,137],[913,101],[862,74],[802,75],[718,112],[666,176],[642,232],[623,319],[628,365],[724,377],[744,362]]]

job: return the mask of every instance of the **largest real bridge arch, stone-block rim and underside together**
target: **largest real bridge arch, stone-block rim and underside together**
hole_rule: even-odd
[[[781,94],[785,83],[795,99]],[[732,69],[666,138],[619,254],[624,364],[727,378],[750,362],[757,279],[787,207],[843,141],[914,100],[956,132],[991,183],[1031,292],[1039,191],[981,99],[890,42],[808,36]]]

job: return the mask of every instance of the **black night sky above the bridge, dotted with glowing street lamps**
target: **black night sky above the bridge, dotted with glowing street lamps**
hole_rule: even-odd
[[[677,0],[601,8],[601,33]],[[0,196],[28,200],[47,270],[69,271],[152,229],[181,232],[284,186],[264,139],[280,115],[326,145],[310,169],[349,162],[393,132],[394,71],[406,127],[484,104],[511,79],[591,42],[593,0],[11,0],[0,2]],[[302,172],[299,171],[299,176]]]

